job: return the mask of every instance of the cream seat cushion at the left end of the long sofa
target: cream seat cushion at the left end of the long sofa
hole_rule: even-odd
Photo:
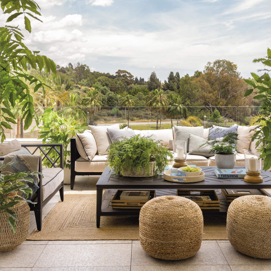
[[[77,172],[103,172],[106,167],[107,155],[95,155],[92,161],[79,157],[75,160],[75,171]]]

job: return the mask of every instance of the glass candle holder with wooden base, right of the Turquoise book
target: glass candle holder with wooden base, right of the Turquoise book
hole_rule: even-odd
[[[261,174],[261,158],[260,152],[256,150],[243,150],[245,154],[245,168],[246,176],[244,177],[245,182],[263,182]]]

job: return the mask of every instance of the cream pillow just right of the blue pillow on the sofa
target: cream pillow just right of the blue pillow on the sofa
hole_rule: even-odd
[[[248,150],[250,148],[251,144],[251,137],[254,135],[256,130],[253,130],[257,127],[257,125],[254,126],[240,126],[238,125],[237,133],[238,133],[238,139],[236,141],[236,147],[237,151],[240,153],[244,153],[243,149]],[[252,130],[250,132],[250,130]],[[256,144],[257,140],[255,140]]]

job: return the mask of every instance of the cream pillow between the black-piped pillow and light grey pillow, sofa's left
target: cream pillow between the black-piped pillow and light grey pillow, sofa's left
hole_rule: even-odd
[[[120,129],[118,124],[110,126],[92,126],[89,125],[91,132],[95,138],[97,144],[97,150],[99,155],[108,154],[107,148],[111,145],[111,140],[107,132],[107,128]]]

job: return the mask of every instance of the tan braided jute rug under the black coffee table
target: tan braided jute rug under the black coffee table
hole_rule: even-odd
[[[204,218],[203,240],[227,240],[226,217]],[[102,216],[96,228],[95,191],[66,192],[27,240],[139,240],[138,217]]]

